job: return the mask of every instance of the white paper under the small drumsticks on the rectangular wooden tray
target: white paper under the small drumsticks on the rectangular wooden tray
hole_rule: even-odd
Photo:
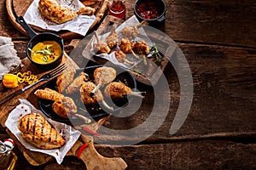
[[[137,20],[136,16],[133,15],[131,16],[130,19],[126,20],[123,24],[121,24],[120,26],[118,26],[116,28],[115,31],[118,32],[118,39],[119,41],[123,38],[121,30],[125,27],[128,26],[138,26],[140,24],[140,22]],[[148,38],[147,33],[143,30],[143,27],[139,28],[140,34],[138,37],[135,37],[133,40],[134,41],[139,41],[139,40],[144,40],[145,42],[148,43],[148,46],[151,47],[153,45],[153,42]],[[100,39],[102,40],[102,42],[105,42],[105,39],[108,37],[108,35],[110,34],[110,32],[103,34],[100,37]],[[119,42],[118,41],[118,42]],[[142,62],[143,57],[140,57],[140,55],[137,54],[137,56],[139,57],[139,59],[136,59],[132,54],[126,54],[126,59],[130,60],[131,62],[133,62],[133,65],[130,65],[126,62],[124,63],[120,63],[114,56],[114,53],[111,54],[96,54],[96,50],[93,48],[93,44],[97,43],[96,41],[96,37],[93,36],[92,37],[92,41],[90,44],[90,54],[96,55],[98,57],[102,57],[103,59],[108,59],[109,61],[111,61],[114,65],[120,65],[122,67],[125,67],[127,69],[131,69],[133,66],[137,65],[138,63]],[[86,48],[85,48],[86,49]],[[115,48],[119,49],[119,48]],[[149,54],[150,55],[150,54]]]

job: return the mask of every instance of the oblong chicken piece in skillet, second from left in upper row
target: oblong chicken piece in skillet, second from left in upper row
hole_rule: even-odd
[[[76,77],[73,82],[67,87],[66,94],[74,94],[79,91],[84,82],[89,80],[89,76],[84,72],[79,74],[79,77]]]

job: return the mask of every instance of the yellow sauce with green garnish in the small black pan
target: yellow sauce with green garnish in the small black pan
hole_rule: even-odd
[[[55,41],[38,42],[31,50],[31,58],[38,64],[51,63],[60,55],[61,46]]]

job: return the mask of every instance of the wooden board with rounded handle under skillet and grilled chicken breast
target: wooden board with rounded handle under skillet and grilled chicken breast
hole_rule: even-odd
[[[65,53],[62,59],[62,62],[67,62],[68,67],[67,68],[75,68],[77,69],[79,66],[76,65],[76,63],[73,62],[73,59],[70,59],[69,56]],[[42,77],[45,72],[38,70],[35,65],[32,65],[31,61],[29,59],[23,59],[22,64],[25,65],[20,71],[32,71],[33,74],[37,75],[38,77]],[[43,85],[40,83],[40,85]],[[36,85],[35,87],[28,89],[24,94],[20,94],[15,99],[9,100],[8,104],[0,105],[0,123],[3,127],[5,127],[5,122],[7,120],[7,117],[9,116],[9,112],[15,109],[16,105],[19,105],[18,99],[27,99],[32,103],[32,105],[35,105],[38,107],[38,99],[34,95],[34,91],[38,88]],[[6,89],[3,90],[3,84],[0,84],[0,96],[1,99],[4,98],[4,96],[8,96],[9,94],[12,94],[15,92],[15,90],[18,89]],[[21,84],[19,86],[21,87]],[[90,125],[86,125],[86,127],[90,128],[93,131],[96,131],[99,126],[105,122],[108,119],[108,117],[103,118],[102,120],[92,123]],[[7,129],[7,133],[9,134],[9,137],[14,139],[16,146],[19,148],[19,150],[22,152],[23,156],[25,156],[26,160],[29,161],[33,166],[39,166],[43,165],[51,160],[54,159],[53,156],[48,156],[39,152],[27,150],[18,139],[15,138],[15,135],[12,134],[9,129]],[[88,135],[88,133],[82,132],[79,140],[73,145],[73,148],[68,151],[67,156],[78,156],[78,151],[80,147],[84,143],[88,143],[90,141],[90,144],[87,148],[84,149],[84,151],[81,154],[81,160],[84,161],[84,164],[86,165],[87,169],[125,169],[127,167],[125,161],[120,157],[115,158],[107,158],[104,156],[101,156],[95,149],[94,143],[93,143],[93,136]]]

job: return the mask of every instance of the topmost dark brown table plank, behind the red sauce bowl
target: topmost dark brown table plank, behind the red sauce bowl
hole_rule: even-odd
[[[193,1],[166,0],[165,25],[160,30],[172,39],[183,42],[212,42],[256,47],[256,5],[254,1]],[[126,3],[126,18],[133,14],[135,0]],[[0,2],[3,24],[0,35],[13,38],[26,37],[11,26],[4,2]],[[195,17],[196,16],[196,17]],[[250,32],[250,33],[249,33]],[[254,32],[254,34],[252,34]]]

